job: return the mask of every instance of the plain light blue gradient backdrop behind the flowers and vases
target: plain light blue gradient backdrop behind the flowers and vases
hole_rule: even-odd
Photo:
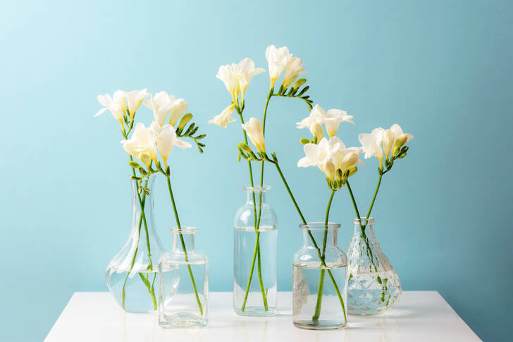
[[[206,121],[229,104],[218,66],[269,44],[304,60],[309,94],[354,115],[340,137],[400,123],[415,139],[383,180],[376,235],[405,290],[436,290],[485,341],[507,341],[513,305],[511,1],[9,1],[0,20],[0,325],[2,341],[41,341],[75,291],[106,291],[106,264],[130,224],[127,156],[97,94],[147,87],[185,97],[206,152],[177,150],[180,216],[200,227],[212,291],[232,288],[233,215],[245,200],[237,123]],[[254,78],[247,115],[261,116],[268,75]],[[273,99],[268,149],[277,152],[308,219],[328,190],[319,170],[297,169],[294,123],[302,102]],[[140,120],[149,123],[148,109]],[[352,181],[361,207],[376,159]],[[280,229],[279,288],[290,290],[298,218],[275,171],[268,200]],[[163,180],[158,230],[174,225]],[[333,203],[345,248],[354,216]]]

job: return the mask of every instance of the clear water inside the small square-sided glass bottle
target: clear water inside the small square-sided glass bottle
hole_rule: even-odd
[[[187,265],[194,276],[198,297]],[[159,324],[168,328],[206,326],[209,292],[206,260],[180,264],[161,262],[159,267]]]

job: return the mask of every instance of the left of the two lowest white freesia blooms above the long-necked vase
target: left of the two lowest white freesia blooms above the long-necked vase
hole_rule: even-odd
[[[121,143],[128,154],[139,159],[146,166],[149,166],[152,161],[157,162],[156,142],[150,128],[144,127],[144,123],[137,123],[132,138],[121,140]]]

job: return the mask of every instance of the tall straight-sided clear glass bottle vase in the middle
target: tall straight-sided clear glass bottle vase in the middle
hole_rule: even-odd
[[[246,203],[235,215],[233,308],[265,316],[276,312],[278,230],[276,214],[265,202],[264,187],[244,187]]]

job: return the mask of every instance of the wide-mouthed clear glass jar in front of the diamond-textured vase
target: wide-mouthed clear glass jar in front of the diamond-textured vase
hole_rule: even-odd
[[[338,248],[340,224],[299,225],[303,246],[292,261],[292,320],[303,329],[340,329],[347,324],[347,257]]]

